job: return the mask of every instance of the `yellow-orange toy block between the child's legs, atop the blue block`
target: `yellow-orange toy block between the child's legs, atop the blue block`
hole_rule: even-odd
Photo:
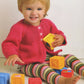
[[[53,69],[62,69],[65,66],[64,57],[53,56],[50,58],[50,67]]]

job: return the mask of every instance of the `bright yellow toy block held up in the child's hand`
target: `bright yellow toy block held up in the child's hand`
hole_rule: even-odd
[[[44,44],[46,45],[47,48],[53,50],[54,48],[52,47],[52,42],[54,42],[56,39],[54,39],[54,35],[52,33],[49,33],[47,36],[43,38]]]

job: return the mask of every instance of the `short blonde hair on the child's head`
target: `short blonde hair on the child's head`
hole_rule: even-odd
[[[46,13],[47,13],[47,11],[48,11],[49,8],[50,8],[50,0],[18,0],[18,9],[19,9],[19,11],[21,11],[22,5],[23,5],[24,2],[26,2],[26,1],[27,1],[27,3],[29,3],[29,4],[34,3],[34,2],[36,2],[36,1],[40,1],[43,5],[45,5],[45,7],[46,7],[45,12],[46,12]]]

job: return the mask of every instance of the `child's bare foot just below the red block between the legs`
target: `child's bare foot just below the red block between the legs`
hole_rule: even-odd
[[[80,76],[73,76],[72,78],[61,77],[59,79],[59,84],[76,84],[80,79]]]

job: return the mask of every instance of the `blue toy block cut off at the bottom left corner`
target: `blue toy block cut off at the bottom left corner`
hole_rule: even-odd
[[[0,84],[9,84],[9,82],[10,82],[9,73],[0,72]]]

